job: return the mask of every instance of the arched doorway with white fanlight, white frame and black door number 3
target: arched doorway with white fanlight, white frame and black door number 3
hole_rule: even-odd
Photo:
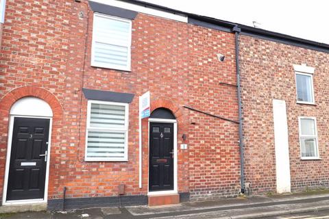
[[[32,96],[10,108],[3,205],[47,201],[52,117],[49,104]]]

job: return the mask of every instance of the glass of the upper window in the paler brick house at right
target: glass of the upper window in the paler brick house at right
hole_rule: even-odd
[[[305,102],[313,102],[312,81],[308,75],[296,74],[297,82],[297,100]]]

